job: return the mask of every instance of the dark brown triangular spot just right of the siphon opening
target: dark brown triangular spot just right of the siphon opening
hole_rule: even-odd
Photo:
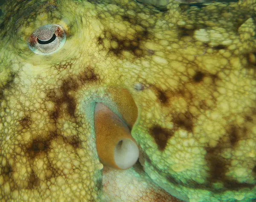
[[[168,139],[170,139],[174,133],[156,125],[150,129],[150,134],[154,138],[158,148],[163,151],[166,148]]]

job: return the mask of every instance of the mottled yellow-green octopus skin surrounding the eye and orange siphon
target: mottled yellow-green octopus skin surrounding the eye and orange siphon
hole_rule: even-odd
[[[0,17],[0,199],[102,197],[95,102],[137,108],[140,162],[190,202],[256,198],[256,0],[166,9],[132,0],[8,1]],[[64,27],[57,53],[27,46]],[[117,90],[122,97],[122,90]],[[122,116],[122,114],[119,114]]]

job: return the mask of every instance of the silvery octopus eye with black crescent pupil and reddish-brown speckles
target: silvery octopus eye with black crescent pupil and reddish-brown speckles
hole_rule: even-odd
[[[29,37],[28,46],[35,54],[49,55],[57,52],[64,45],[66,34],[59,25],[44,25]]]

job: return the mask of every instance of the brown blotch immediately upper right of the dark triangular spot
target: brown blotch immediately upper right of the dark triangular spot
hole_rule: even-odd
[[[192,114],[175,114],[173,116],[173,122],[175,128],[183,128],[186,131],[193,132]]]

